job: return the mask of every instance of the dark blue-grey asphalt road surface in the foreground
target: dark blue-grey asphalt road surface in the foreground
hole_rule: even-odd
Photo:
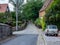
[[[36,45],[37,34],[18,35],[15,39],[5,42],[1,45]]]

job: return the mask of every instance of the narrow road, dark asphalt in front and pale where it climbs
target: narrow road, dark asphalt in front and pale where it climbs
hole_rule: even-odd
[[[42,45],[43,43],[40,44],[42,38],[40,38],[41,35],[39,35],[38,30],[34,24],[29,24],[25,30],[13,32],[17,37],[2,45]],[[38,42],[39,44],[37,44]]]

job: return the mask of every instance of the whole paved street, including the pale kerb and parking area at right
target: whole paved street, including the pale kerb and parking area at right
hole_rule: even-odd
[[[23,31],[13,32],[16,38],[1,45],[60,45],[60,37],[45,36],[41,29],[29,24]]]

